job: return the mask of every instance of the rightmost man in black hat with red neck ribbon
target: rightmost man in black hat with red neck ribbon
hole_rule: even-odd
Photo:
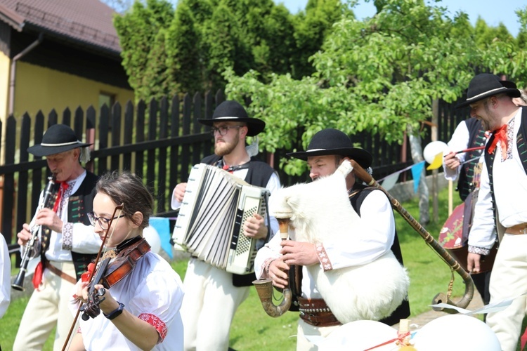
[[[515,87],[500,84],[494,74],[478,74],[469,84],[467,100],[471,116],[481,119],[492,132],[484,152],[481,187],[469,234],[467,268],[480,271],[496,238],[500,242],[490,275],[490,303],[519,296],[527,291],[527,108],[518,107]],[[505,310],[489,313],[486,323],[496,333],[502,350],[514,351],[526,314],[525,296],[515,298]]]

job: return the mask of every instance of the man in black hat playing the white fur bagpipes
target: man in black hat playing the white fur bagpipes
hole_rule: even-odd
[[[309,176],[312,180],[330,176],[344,159],[353,159],[365,169],[372,164],[370,152],[353,147],[349,137],[337,129],[319,131],[313,135],[306,151],[292,152],[288,155],[308,162]],[[349,239],[353,240],[353,244],[351,241],[349,243],[346,241],[323,242],[316,248],[315,244],[308,242],[280,241],[280,237],[273,237],[269,244],[260,249],[256,255],[254,263],[256,277],[271,278],[274,286],[284,288],[289,284],[287,272],[290,265],[318,264],[325,271],[334,270],[370,263],[390,249],[402,265],[403,258],[396,234],[395,219],[386,194],[356,182],[353,171],[346,177],[346,187],[351,205],[360,216],[361,227],[368,228],[368,230],[349,233]],[[301,295],[297,297],[301,312],[297,350],[315,350],[313,344],[305,336],[327,336],[341,325],[332,314],[327,315],[326,310],[329,310],[329,307],[325,305],[322,298],[318,298],[313,282],[313,277],[304,267],[301,286],[295,286],[292,289],[292,291],[301,292]],[[367,284],[367,282],[358,282],[358,284]],[[320,311],[311,311],[309,305],[317,305],[316,308]],[[309,315],[303,310],[310,310]],[[320,316],[313,318],[314,314],[320,314]],[[409,315],[410,307],[408,300],[405,300],[391,316],[381,322],[389,325],[397,324],[399,319]]]

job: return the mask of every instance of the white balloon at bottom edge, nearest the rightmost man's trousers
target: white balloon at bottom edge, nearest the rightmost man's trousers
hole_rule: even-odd
[[[412,338],[421,351],[500,351],[500,341],[490,327],[476,317],[448,314],[417,330]]]

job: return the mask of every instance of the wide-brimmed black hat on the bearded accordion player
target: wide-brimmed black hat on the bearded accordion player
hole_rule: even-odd
[[[227,100],[221,102],[214,110],[212,118],[198,118],[197,121],[205,126],[212,126],[214,122],[243,122],[247,124],[247,136],[258,135],[266,127],[266,122],[247,116],[247,111],[238,102]]]

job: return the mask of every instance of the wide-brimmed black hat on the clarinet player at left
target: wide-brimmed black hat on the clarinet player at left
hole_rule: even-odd
[[[27,152],[42,157],[51,154],[60,154],[60,152],[89,145],[91,144],[81,143],[77,140],[77,135],[75,135],[75,132],[69,126],[65,124],[54,124],[44,133],[42,143],[28,147]]]

